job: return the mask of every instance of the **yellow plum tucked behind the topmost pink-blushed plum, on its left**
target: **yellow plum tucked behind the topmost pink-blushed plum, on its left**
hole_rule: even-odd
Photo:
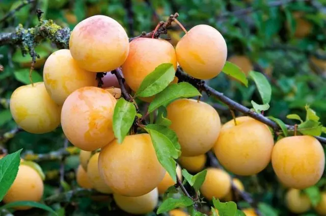
[[[43,79],[47,92],[59,105],[73,91],[86,86],[97,86],[96,75],[80,68],[71,57],[69,49],[55,51],[47,58]]]

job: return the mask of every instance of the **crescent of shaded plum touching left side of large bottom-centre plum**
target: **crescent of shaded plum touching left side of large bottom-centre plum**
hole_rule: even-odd
[[[99,152],[96,152],[89,160],[87,165],[87,176],[96,191],[103,194],[112,194],[112,189],[100,176],[98,169],[98,156]]]

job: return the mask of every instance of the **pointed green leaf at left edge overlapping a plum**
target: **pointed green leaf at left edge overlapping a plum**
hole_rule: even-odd
[[[0,201],[2,201],[4,196],[7,194],[17,176],[21,150],[22,149],[19,149],[18,151],[8,154],[0,159]]]

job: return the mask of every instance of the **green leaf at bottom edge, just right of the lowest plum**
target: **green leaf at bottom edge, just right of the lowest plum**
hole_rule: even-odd
[[[175,208],[184,208],[193,205],[193,203],[194,202],[192,199],[185,197],[183,195],[179,199],[168,198],[162,202],[162,204],[157,209],[156,213],[160,214]]]

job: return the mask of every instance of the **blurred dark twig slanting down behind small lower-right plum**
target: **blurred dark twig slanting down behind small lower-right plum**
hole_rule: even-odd
[[[206,154],[207,154],[207,157],[209,158],[210,166],[224,170],[224,168],[220,165],[218,159],[216,159],[216,157],[214,156],[213,152],[209,151]],[[233,181],[231,181],[231,190],[232,190],[233,195],[238,194],[239,197],[242,198],[242,200],[246,201],[248,204],[250,204],[254,208],[257,208],[257,203],[250,196],[250,194],[248,194],[247,192],[244,192],[244,191],[240,191],[239,188],[237,188],[236,185],[233,183]],[[256,209],[256,211],[257,211],[257,209]],[[261,215],[260,212],[258,212],[258,215]]]

